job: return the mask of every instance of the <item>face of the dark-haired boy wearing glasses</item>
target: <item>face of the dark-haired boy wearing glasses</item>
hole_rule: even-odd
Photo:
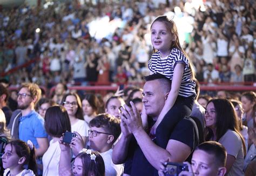
[[[98,151],[99,153],[109,150],[111,148],[109,148],[109,144],[111,143],[111,141],[109,140],[110,135],[104,134],[108,132],[106,132],[103,127],[97,128],[95,126],[92,126],[91,130],[98,132],[96,137],[93,136],[92,133],[89,135],[90,147],[92,148],[92,150]]]

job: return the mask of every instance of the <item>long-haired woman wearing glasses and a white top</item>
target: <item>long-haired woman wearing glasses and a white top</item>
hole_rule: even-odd
[[[68,111],[71,123],[71,132],[81,134],[83,141],[87,141],[88,130],[90,129],[83,118],[82,103],[77,93],[67,93],[60,103]]]

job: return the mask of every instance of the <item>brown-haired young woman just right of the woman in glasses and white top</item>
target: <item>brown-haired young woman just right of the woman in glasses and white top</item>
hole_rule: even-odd
[[[98,98],[95,94],[88,93],[82,101],[82,109],[84,112],[84,120],[87,124],[98,114]]]

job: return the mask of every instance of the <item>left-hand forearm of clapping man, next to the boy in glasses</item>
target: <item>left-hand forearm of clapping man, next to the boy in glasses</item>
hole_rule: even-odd
[[[127,157],[127,152],[131,137],[122,137],[113,148],[112,161],[114,164],[123,164]]]

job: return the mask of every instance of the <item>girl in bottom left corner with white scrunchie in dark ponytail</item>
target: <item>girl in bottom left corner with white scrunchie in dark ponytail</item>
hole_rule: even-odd
[[[25,143],[22,140],[13,140],[8,143],[2,155],[3,167],[5,168],[4,176],[32,176],[37,175],[37,164],[35,147],[29,140]],[[28,165],[28,169],[24,169]]]

